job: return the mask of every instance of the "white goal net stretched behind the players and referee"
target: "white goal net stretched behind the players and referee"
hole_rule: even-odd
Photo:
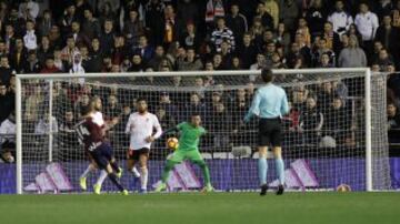
[[[79,176],[89,161],[73,130],[90,98],[102,99],[107,133],[114,155],[126,167],[129,136],[124,133],[136,99],[144,98],[163,130],[202,116],[208,134],[200,151],[211,181],[220,191],[254,191],[258,119],[243,124],[260,71],[150,72],[108,74],[18,75],[17,192],[82,192]],[[276,70],[274,82],[284,88],[290,114],[282,118],[286,184],[293,190],[353,191],[390,189],[386,130],[386,77],[367,69]],[[73,77],[74,75],[74,77]],[[149,190],[160,180],[167,156],[166,135],[150,152]],[[272,156],[269,156],[272,159]],[[268,183],[277,184],[269,160]],[[88,179],[88,191],[99,172]],[[170,190],[201,186],[201,172],[184,163],[169,180]],[[124,172],[130,191],[139,181]],[[116,191],[107,180],[103,191]]]

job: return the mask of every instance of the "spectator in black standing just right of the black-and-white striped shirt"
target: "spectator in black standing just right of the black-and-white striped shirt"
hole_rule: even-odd
[[[243,14],[239,13],[239,6],[231,4],[230,14],[227,16],[227,27],[232,30],[234,42],[239,43],[244,32],[248,31],[248,22]]]

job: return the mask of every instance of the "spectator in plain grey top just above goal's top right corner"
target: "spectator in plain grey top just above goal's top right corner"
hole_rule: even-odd
[[[350,35],[349,47],[341,50],[338,64],[340,68],[367,67],[366,53],[358,47],[358,39],[356,35]]]

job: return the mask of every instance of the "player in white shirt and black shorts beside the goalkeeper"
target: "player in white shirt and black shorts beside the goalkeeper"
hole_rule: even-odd
[[[128,171],[134,174],[134,164],[139,162],[140,192],[146,193],[149,176],[147,163],[150,146],[154,140],[160,138],[162,130],[157,116],[148,112],[148,104],[144,99],[137,100],[137,109],[138,112],[129,116],[126,128],[126,133],[130,134],[129,150],[127,153]]]

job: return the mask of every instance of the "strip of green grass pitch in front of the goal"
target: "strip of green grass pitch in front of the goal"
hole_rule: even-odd
[[[1,224],[389,224],[400,193],[0,195]]]

